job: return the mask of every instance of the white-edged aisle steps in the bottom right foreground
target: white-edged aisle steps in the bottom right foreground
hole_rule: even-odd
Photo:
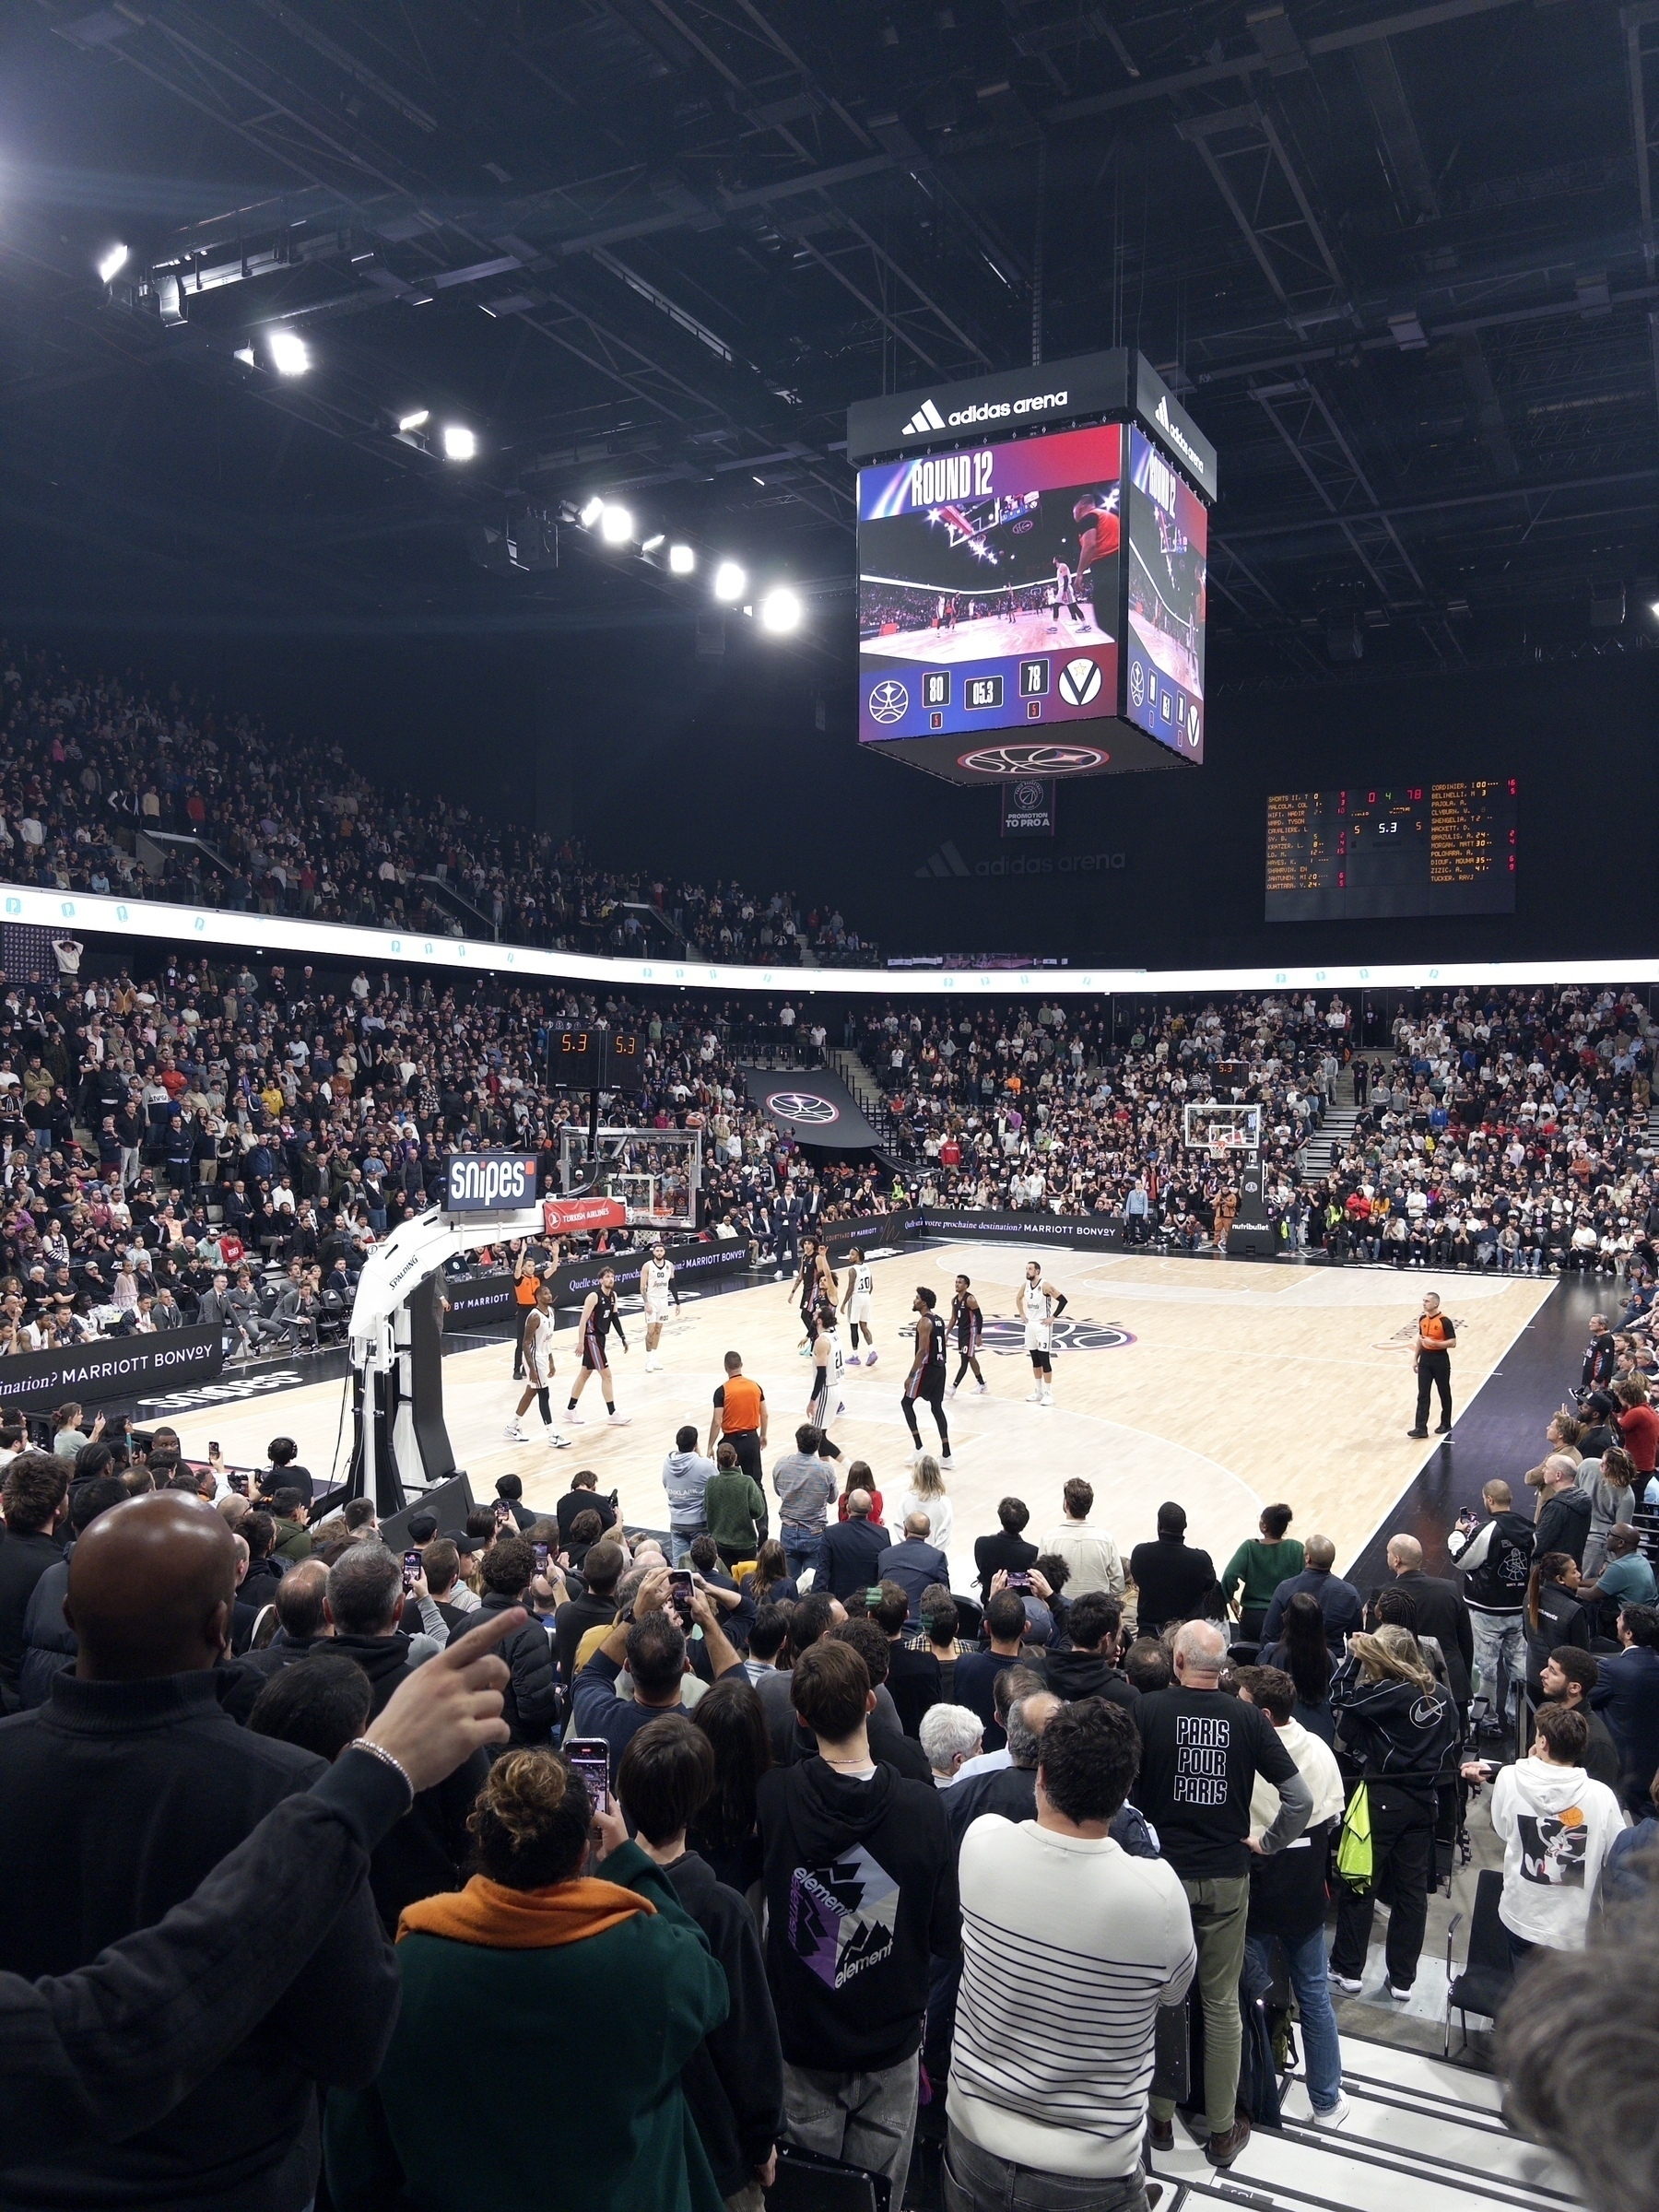
[[[1511,2135],[1491,2075],[1447,2066],[1398,2044],[1343,2031],[1343,2128],[1310,2126],[1301,2077],[1285,2124],[1256,2128],[1225,2172],[1206,2163],[1175,2121],[1175,2150],[1152,2154],[1152,2179],[1175,2194],[1159,2212],[1571,2212],[1573,2174]]]

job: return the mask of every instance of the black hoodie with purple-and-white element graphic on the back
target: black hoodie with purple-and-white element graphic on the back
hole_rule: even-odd
[[[768,1980],[783,2057],[823,2073],[898,2066],[922,2042],[929,1958],[962,1940],[938,1790],[823,1759],[759,1787]]]

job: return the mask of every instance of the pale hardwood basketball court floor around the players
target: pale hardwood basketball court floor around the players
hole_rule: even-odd
[[[1013,1314],[1024,1263],[1040,1259],[1068,1294],[1055,1354],[1055,1407],[1024,1402],[1031,1365]],[[1548,1298],[1553,1281],[1369,1267],[1285,1267],[1245,1261],[1199,1263],[1137,1254],[1082,1254],[1040,1241],[1018,1245],[938,1245],[874,1261],[876,1347],[880,1363],[847,1374],[845,1416],[834,1438],[863,1458],[887,1500],[905,1489],[909,1436],[898,1407],[909,1367],[911,1296],[927,1283],[949,1307],[956,1272],[973,1279],[987,1312],[980,1365],[989,1396],[947,1400],[956,1473],[953,1579],[964,1586],[973,1537],[995,1526],[998,1500],[1018,1493],[1031,1506],[1031,1533],[1060,1522],[1060,1489],[1071,1475],[1095,1484],[1095,1520],[1124,1553],[1155,1533],[1157,1506],[1177,1498],[1190,1537],[1221,1568],[1254,1531],[1265,1502],[1296,1509],[1294,1533],[1323,1531],[1345,1566],[1365,1548],[1431,1458],[1433,1440],[1407,1438],[1413,1411],[1411,1336],[1422,1292],[1438,1290],[1458,1325],[1455,1409],[1467,1407],[1500,1358]],[[622,1495],[626,1520],[664,1526],[664,1453],[675,1429],[708,1433],[721,1356],[743,1354],[745,1371],[768,1394],[768,1467],[794,1449],[805,1413],[807,1360],[796,1356],[799,1323],[790,1285],[761,1283],[710,1298],[688,1298],[664,1334],[664,1374],[644,1374],[644,1327],[624,1316],[633,1352],[613,1369],[626,1429],[604,1425],[597,1380],[582,1396],[586,1425],[573,1447],[549,1451],[540,1438],[509,1444],[507,1416],[518,1402],[511,1347],[495,1343],[445,1360],[445,1413],[456,1460],[489,1495],[509,1469],[524,1478],[531,1504],[551,1504],[577,1467],[593,1467],[599,1489]],[[560,1385],[573,1374],[573,1332],[557,1338]],[[953,1365],[951,1365],[951,1371]],[[246,1407],[186,1413],[177,1427],[188,1453],[219,1438],[234,1464],[263,1464],[272,1436],[292,1436],[319,1478],[334,1464],[341,1383],[263,1396]],[[555,1407],[566,1389],[555,1389]],[[927,1409],[922,1442],[933,1447]],[[529,1416],[538,1436],[535,1409]],[[345,1425],[349,1447],[349,1418]],[[1542,1442],[1540,1442],[1542,1449]],[[341,1453],[343,1464],[343,1453]]]

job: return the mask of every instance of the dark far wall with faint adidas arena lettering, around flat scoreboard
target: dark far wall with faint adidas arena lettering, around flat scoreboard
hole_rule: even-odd
[[[1214,701],[1183,776],[1060,785],[1055,838],[1000,838],[998,796],[860,757],[849,688],[818,732],[801,677],[690,664],[672,706],[611,701],[604,768],[566,739],[575,827],[615,860],[792,872],[883,958],[991,951],[1148,969],[1613,958],[1650,949],[1659,889],[1621,823],[1659,799],[1659,659],[1469,670]],[[1515,776],[1515,914],[1263,922],[1270,792]],[[695,847],[695,849],[688,849]],[[945,874],[938,872],[945,869]]]

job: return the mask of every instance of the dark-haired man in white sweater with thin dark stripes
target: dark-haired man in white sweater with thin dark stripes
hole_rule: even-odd
[[[1152,2037],[1197,1949],[1175,1869],[1108,1834],[1137,1765],[1119,1705],[1062,1705],[1042,1732],[1035,1823],[982,1814],[962,1838],[951,2212],[1155,2201],[1141,2166]]]

